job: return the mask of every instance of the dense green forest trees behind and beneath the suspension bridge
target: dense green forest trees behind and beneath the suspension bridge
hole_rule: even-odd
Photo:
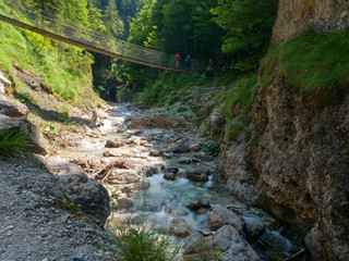
[[[186,55],[194,69],[249,72],[266,52],[277,0],[28,0],[40,9],[145,48]],[[72,52],[69,52],[73,55]],[[74,52],[73,52],[74,53]],[[81,55],[81,52],[76,55]],[[154,69],[93,53],[94,86],[107,98],[109,85],[144,86]],[[112,95],[113,96],[113,95]]]

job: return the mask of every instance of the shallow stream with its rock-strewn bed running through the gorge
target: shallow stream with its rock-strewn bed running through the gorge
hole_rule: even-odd
[[[109,225],[142,223],[148,231],[170,236],[184,249],[203,233],[209,233],[208,214],[216,204],[233,208],[240,217],[257,216],[269,225],[277,222],[264,211],[240,202],[221,184],[213,181],[215,159],[202,152],[204,140],[180,129],[128,128],[131,116],[146,116],[147,112],[125,104],[111,107],[108,112],[98,112],[103,114],[97,125],[101,133],[99,137],[89,135],[79,140],[77,146],[68,147],[57,156],[96,164],[119,158],[134,165],[129,170],[113,170],[105,178],[104,185],[111,197]],[[108,140],[121,145],[106,148]],[[178,146],[191,149],[181,152]],[[205,178],[202,182],[189,179],[185,173],[190,170],[198,170]],[[188,207],[193,199],[208,201],[209,208],[190,210]],[[172,235],[173,219],[183,219],[190,225],[189,236]]]

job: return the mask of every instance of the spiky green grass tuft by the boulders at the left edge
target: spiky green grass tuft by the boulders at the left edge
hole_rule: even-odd
[[[9,129],[0,137],[0,156],[17,156],[33,148],[29,136],[20,129]]]

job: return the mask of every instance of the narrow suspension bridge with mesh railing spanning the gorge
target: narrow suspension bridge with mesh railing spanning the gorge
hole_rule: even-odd
[[[0,21],[116,59],[163,70],[190,72],[168,66],[164,52],[140,47],[97,30],[76,25],[21,0],[1,0]]]

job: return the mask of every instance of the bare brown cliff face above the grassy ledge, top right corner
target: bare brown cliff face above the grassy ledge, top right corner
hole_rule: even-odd
[[[279,0],[272,47],[308,28],[315,32],[344,29],[349,25],[347,0]]]

